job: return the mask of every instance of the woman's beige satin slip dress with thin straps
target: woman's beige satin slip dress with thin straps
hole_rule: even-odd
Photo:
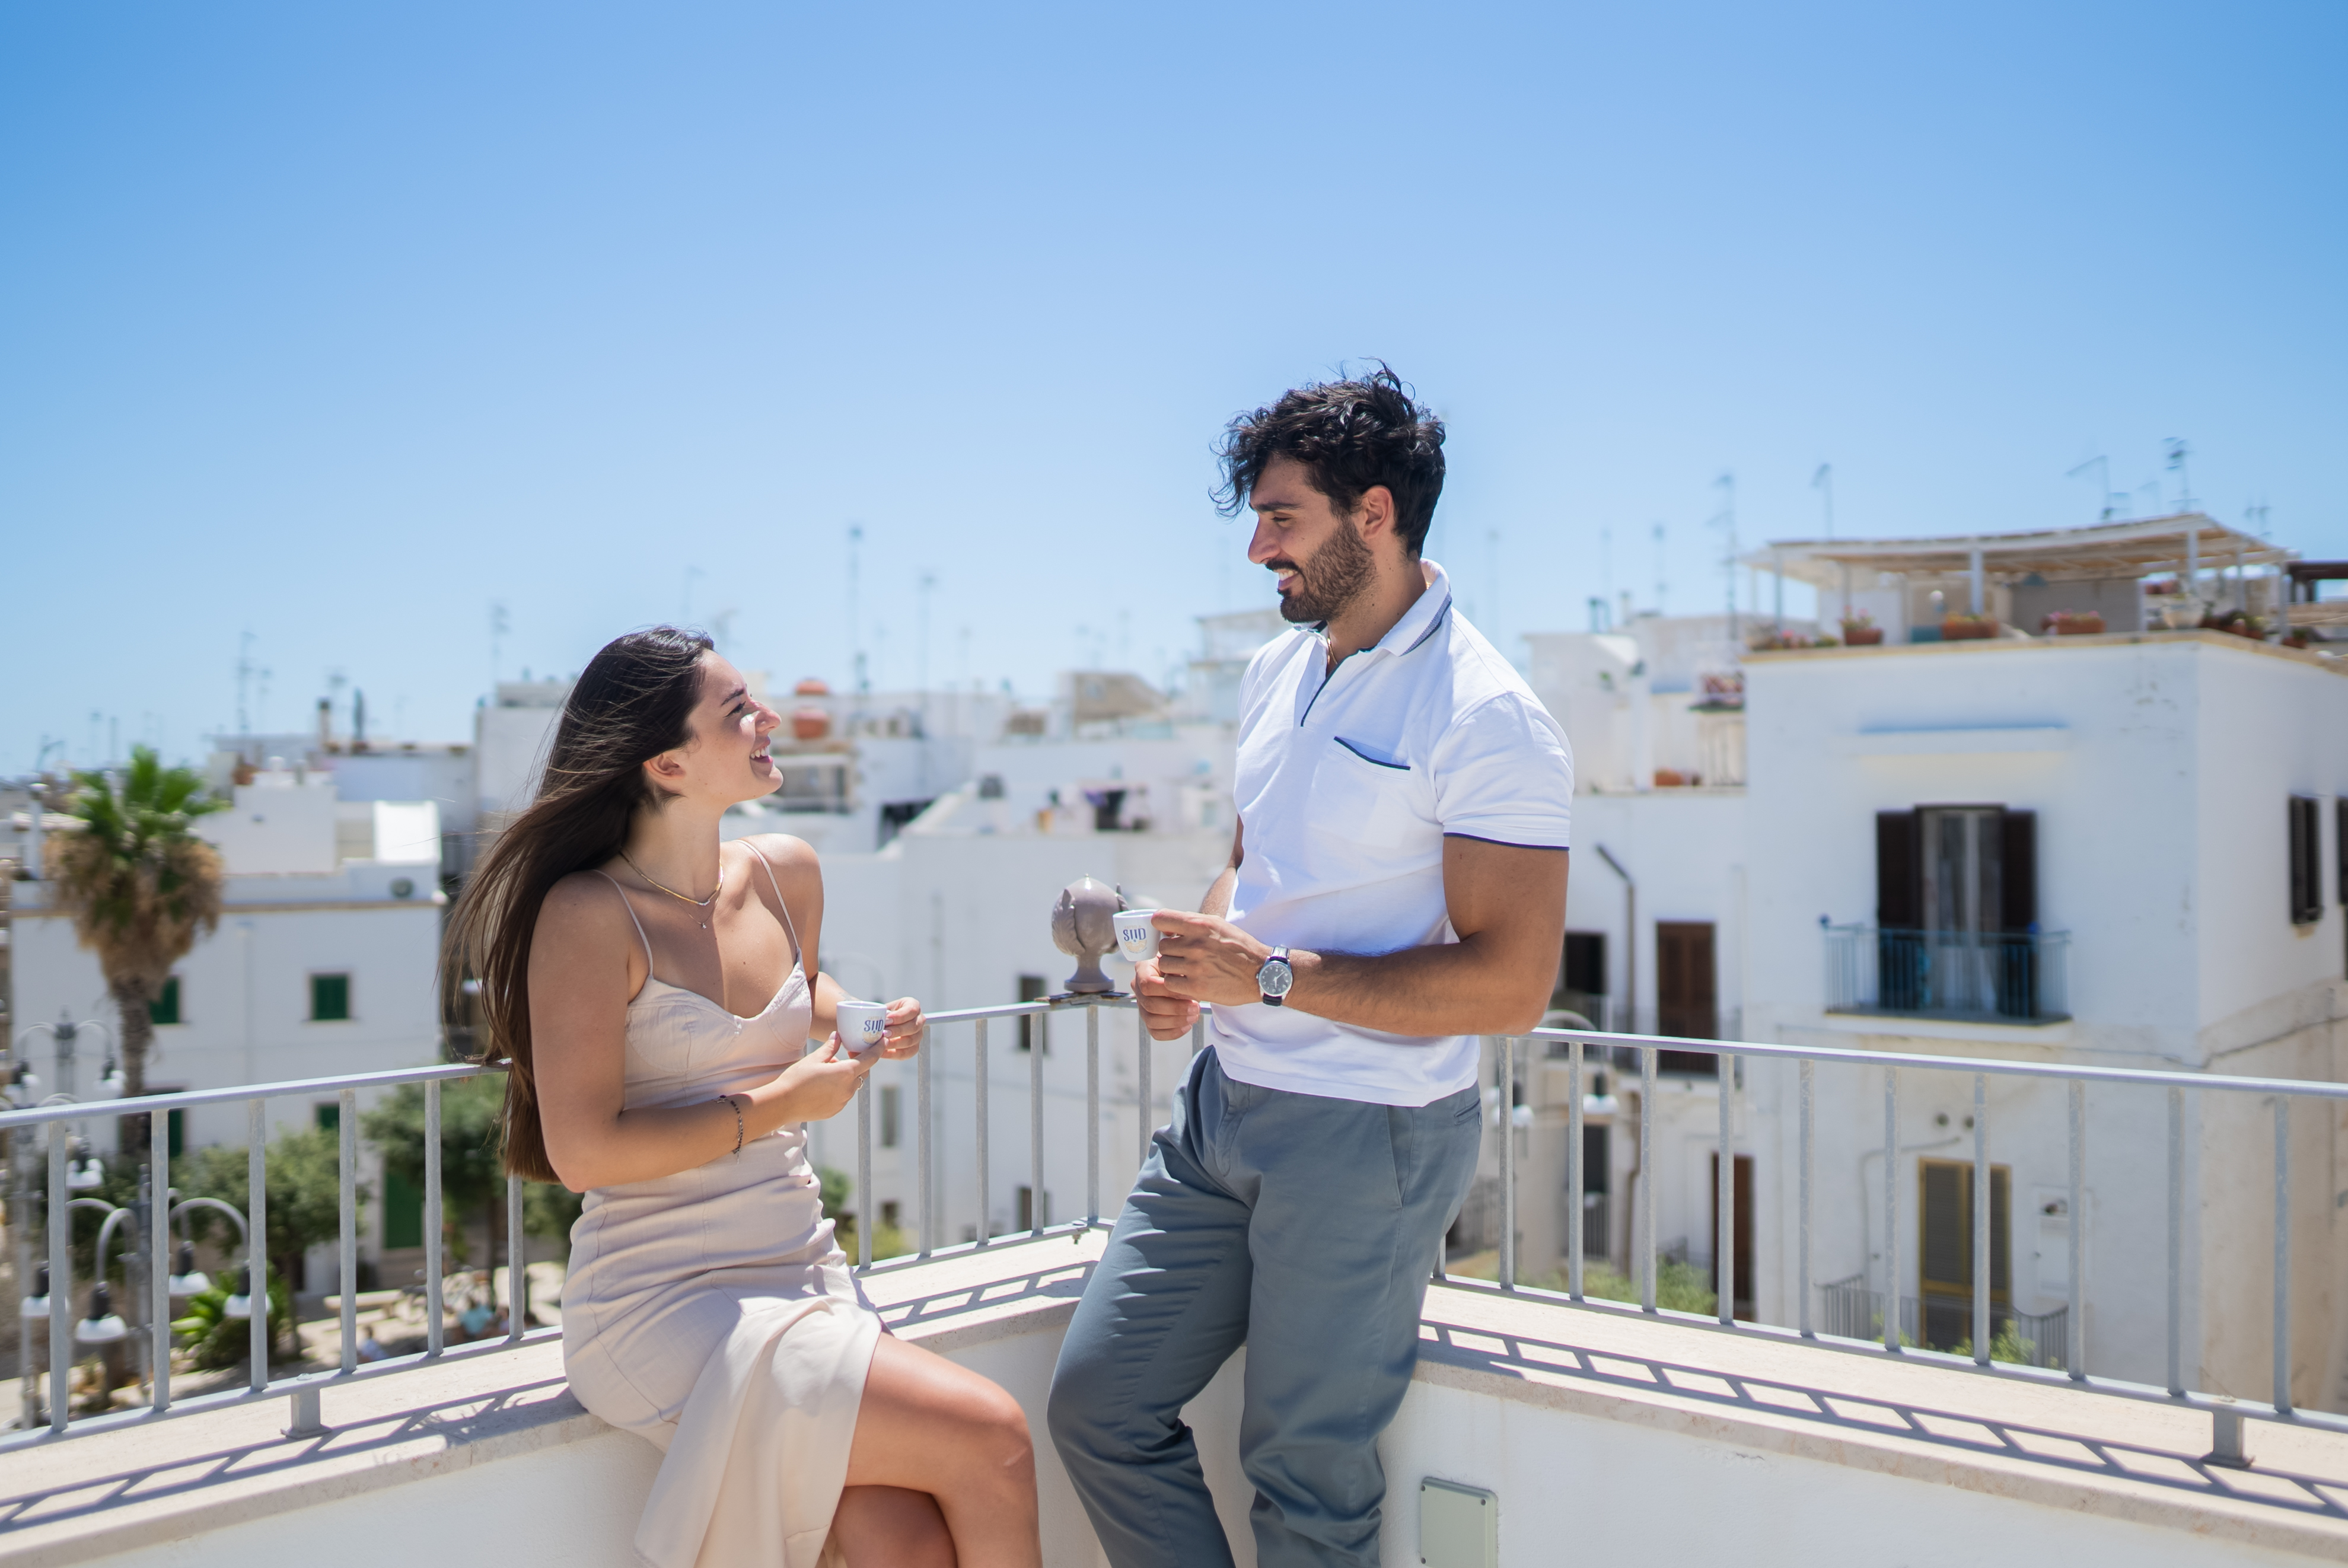
[[[772,866],[765,876],[775,885]],[[653,944],[629,904],[646,981],[627,1005],[627,1110],[700,1106],[798,1061],[812,1023],[808,962],[780,885],[775,906],[791,974],[744,1019],[650,974]],[[824,1218],[803,1127],[690,1171],[592,1188],[571,1228],[564,1371],[580,1404],[664,1451],[636,1528],[653,1568],[826,1563],[878,1338]]]

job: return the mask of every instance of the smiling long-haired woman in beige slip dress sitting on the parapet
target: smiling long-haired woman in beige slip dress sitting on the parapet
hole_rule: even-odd
[[[812,974],[815,852],[718,840],[728,805],[780,784],[777,723],[709,638],[606,646],[458,904],[446,995],[479,976],[488,1056],[512,1063],[507,1169],[587,1195],[564,1368],[667,1451],[648,1563],[1035,1568],[1019,1404],[880,1331],[808,1169],[801,1124],[920,1049],[923,1016],[890,1002],[885,1047],[850,1056],[845,993]]]

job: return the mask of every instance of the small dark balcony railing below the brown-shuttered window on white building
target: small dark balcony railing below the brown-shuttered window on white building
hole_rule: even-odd
[[[1827,1012],[2057,1023],[2071,1016],[2071,932],[1829,925]]]

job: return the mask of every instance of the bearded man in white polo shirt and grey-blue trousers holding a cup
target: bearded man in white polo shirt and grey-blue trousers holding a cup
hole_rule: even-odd
[[[1376,1563],[1378,1434],[1484,1131],[1477,1035],[1540,1021],[1573,761],[1418,552],[1444,427],[1388,371],[1233,420],[1226,509],[1298,629],[1240,688],[1230,866],[1160,913],[1151,1035],[1209,1040],[1094,1268],[1050,1425],[1115,1568],[1230,1563],[1181,1406],[1247,1345],[1263,1568]]]

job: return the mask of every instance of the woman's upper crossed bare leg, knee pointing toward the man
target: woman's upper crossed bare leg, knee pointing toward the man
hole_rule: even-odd
[[[880,1336],[848,1446],[848,1486],[930,1493],[958,1568],[1043,1568],[1026,1413],[939,1354]],[[845,1535],[841,1547],[857,1561]]]

